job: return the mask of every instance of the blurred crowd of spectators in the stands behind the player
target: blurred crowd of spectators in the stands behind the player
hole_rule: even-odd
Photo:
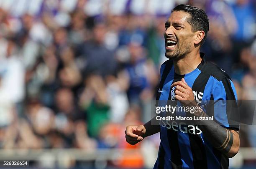
[[[0,0],[0,147],[136,152],[144,143],[123,132],[151,119],[164,23],[180,3],[206,11],[207,61],[230,74],[238,100],[256,100],[255,0]],[[256,146],[255,131],[241,134]],[[143,166],[139,151],[128,156],[113,165]]]

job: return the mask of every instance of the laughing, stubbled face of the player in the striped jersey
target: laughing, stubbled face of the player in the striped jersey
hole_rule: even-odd
[[[191,25],[187,22],[190,15],[183,11],[174,11],[165,23],[165,56],[179,59],[189,53],[194,45]]]

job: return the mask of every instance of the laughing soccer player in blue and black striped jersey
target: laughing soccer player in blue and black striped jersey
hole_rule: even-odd
[[[186,112],[197,117],[214,116],[214,121],[200,121],[195,126],[152,125],[153,118],[144,125],[127,126],[126,141],[134,145],[160,132],[154,169],[228,169],[228,158],[237,154],[240,139],[239,124],[228,119],[230,108],[226,101],[236,101],[237,96],[230,77],[200,53],[209,30],[208,17],[204,10],[178,5],[165,28],[165,55],[169,60],[161,65],[156,100],[190,107],[200,106],[203,101],[221,102],[214,104],[214,111],[203,108],[194,114]]]

